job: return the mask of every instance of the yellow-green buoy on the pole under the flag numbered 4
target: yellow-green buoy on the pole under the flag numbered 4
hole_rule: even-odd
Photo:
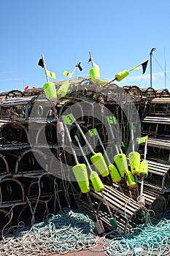
[[[114,157],[114,161],[117,165],[120,175],[122,177],[124,177],[125,175],[128,175],[128,164],[126,161],[125,154],[116,154]]]

